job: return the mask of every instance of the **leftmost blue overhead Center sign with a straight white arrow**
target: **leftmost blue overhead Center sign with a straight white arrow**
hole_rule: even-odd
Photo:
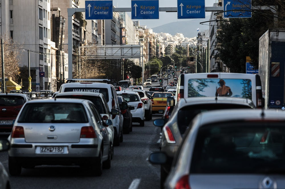
[[[113,19],[113,1],[85,1],[85,19]]]

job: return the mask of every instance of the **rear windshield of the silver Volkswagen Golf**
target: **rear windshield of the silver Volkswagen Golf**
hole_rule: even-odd
[[[18,122],[87,123],[88,118],[80,103],[30,103],[23,108]]]

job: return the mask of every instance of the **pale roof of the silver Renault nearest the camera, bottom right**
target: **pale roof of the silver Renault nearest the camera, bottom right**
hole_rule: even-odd
[[[229,121],[285,121],[284,110],[227,109],[202,112],[199,125]]]

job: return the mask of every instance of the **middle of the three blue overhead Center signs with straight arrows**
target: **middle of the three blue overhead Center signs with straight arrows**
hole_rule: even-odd
[[[158,0],[132,1],[132,19],[159,19]]]

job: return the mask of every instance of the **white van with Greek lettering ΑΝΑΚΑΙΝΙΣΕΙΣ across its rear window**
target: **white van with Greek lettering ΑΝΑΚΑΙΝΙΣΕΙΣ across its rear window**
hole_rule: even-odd
[[[84,82],[75,82],[84,81]],[[102,93],[105,97],[109,111],[118,110],[118,115],[112,115],[114,127],[114,145],[119,146],[123,142],[123,115],[119,108],[119,101],[116,89],[113,85],[107,83],[96,83],[90,81],[108,81],[107,79],[68,79],[70,83],[64,83],[60,86],[59,93],[62,92],[93,92]]]

